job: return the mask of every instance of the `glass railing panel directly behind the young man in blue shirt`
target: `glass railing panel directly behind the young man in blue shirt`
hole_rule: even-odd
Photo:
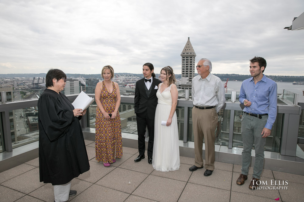
[[[233,147],[243,148],[243,139],[241,135],[241,119],[243,111],[234,112],[234,123],[233,123]],[[265,151],[280,152],[282,127],[283,127],[284,114],[278,113],[275,123],[272,126],[271,134],[266,137]],[[254,149],[254,145],[253,145]]]

